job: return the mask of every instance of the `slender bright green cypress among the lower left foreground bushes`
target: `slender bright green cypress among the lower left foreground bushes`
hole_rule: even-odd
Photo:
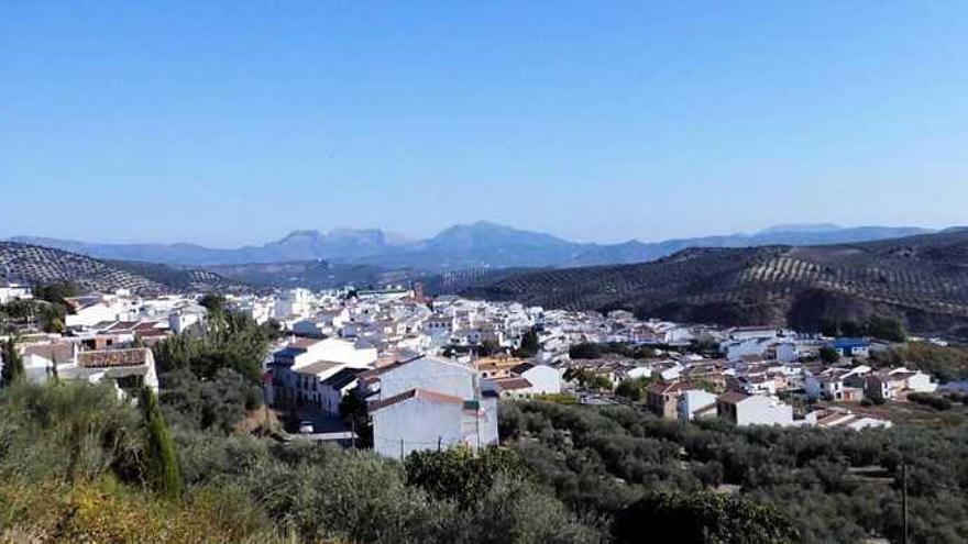
[[[141,390],[141,408],[144,414],[146,436],[146,476],[152,488],[169,499],[182,497],[182,469],[175,442],[158,408],[158,399],[147,387]]]

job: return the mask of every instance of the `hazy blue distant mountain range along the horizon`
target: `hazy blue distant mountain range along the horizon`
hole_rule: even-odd
[[[69,240],[18,236],[13,242],[54,247],[96,258],[138,260],[179,266],[290,263],[326,259],[331,263],[430,271],[468,268],[569,267],[645,263],[686,247],[748,247],[761,245],[823,245],[886,240],[932,231],[919,227],[781,225],[755,234],[732,234],[646,243],[618,244],[566,241],[486,221],[454,225],[426,240],[407,240],[377,229],[295,231],[261,246],[218,249],[194,244],[98,244]]]

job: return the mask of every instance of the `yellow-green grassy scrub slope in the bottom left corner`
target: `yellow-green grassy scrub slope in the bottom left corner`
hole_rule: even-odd
[[[238,486],[196,486],[173,501],[165,485],[156,495],[152,449],[165,426],[146,412],[110,387],[0,391],[0,542],[277,540]]]

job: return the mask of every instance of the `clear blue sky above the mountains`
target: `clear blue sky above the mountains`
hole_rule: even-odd
[[[965,52],[966,2],[4,2],[0,236],[966,224]]]

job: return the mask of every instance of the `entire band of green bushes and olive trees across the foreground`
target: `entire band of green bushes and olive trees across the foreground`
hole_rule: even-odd
[[[676,542],[898,541],[902,463],[913,542],[968,540],[965,429],[736,429],[508,403],[507,447],[402,464],[177,426],[169,493],[148,462],[158,411],[143,412],[80,384],[0,391],[0,542],[662,542],[669,528]],[[851,476],[871,466],[888,478]]]

